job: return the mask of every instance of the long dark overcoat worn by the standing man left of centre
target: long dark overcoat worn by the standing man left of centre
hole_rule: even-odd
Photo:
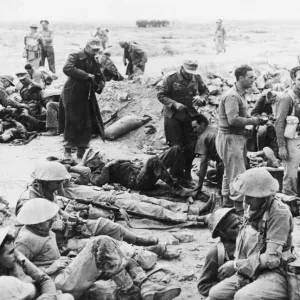
[[[100,94],[105,86],[99,62],[81,50],[69,55],[63,72],[68,79],[60,98],[59,130],[64,132],[65,142],[86,147],[92,133],[100,134],[104,140],[104,126],[95,94],[95,91]],[[88,74],[95,75],[98,85],[91,84]]]

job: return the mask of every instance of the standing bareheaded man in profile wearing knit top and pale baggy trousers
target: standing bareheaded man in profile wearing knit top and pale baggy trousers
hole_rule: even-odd
[[[217,152],[224,163],[222,196],[224,207],[235,207],[243,214],[243,195],[234,191],[230,184],[237,175],[246,171],[247,150],[245,138],[246,125],[262,125],[260,117],[247,115],[246,90],[252,87],[255,76],[248,65],[238,67],[234,75],[236,84],[220,100],[219,130],[216,138]]]

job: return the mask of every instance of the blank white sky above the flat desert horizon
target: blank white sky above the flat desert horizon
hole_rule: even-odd
[[[1,21],[299,19],[299,0],[2,0]],[[5,4],[4,4],[5,3]]]

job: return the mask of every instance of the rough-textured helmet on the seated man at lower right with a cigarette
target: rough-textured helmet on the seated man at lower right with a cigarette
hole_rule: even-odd
[[[264,198],[274,195],[279,190],[276,179],[265,168],[253,168],[238,175],[232,187],[242,195]]]

